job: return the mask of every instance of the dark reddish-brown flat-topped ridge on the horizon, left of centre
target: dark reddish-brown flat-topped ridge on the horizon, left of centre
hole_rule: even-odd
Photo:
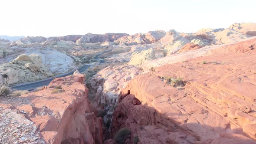
[[[103,35],[87,33],[79,38],[76,43],[104,43],[106,40],[114,42],[116,39],[128,36],[126,33],[105,33]]]

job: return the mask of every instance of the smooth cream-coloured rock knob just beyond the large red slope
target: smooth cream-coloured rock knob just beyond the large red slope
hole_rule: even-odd
[[[156,59],[153,49],[143,50],[141,52],[132,53],[131,60],[128,62],[129,65],[141,65]]]

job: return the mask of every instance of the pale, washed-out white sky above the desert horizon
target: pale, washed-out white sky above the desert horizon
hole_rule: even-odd
[[[256,23],[256,0],[1,0],[0,35],[65,36]]]

